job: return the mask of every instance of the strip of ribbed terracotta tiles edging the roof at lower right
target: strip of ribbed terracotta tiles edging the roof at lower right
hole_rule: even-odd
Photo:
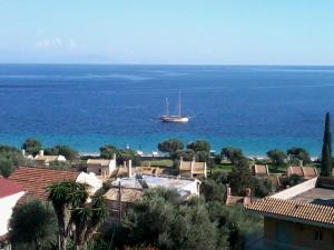
[[[302,201],[265,198],[246,206],[247,210],[279,214],[289,218],[334,224],[334,207],[305,203]]]

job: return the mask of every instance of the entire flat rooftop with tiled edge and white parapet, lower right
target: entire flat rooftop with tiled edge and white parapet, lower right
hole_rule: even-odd
[[[334,179],[313,178],[246,206],[256,213],[334,228]]]

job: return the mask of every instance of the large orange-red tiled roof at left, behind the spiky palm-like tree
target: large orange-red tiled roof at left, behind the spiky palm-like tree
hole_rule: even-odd
[[[73,171],[20,167],[9,179],[22,184],[27,189],[28,196],[47,200],[48,186],[63,180],[76,180],[78,174],[79,172]]]

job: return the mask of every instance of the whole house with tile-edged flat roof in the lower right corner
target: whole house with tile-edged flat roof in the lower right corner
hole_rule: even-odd
[[[264,217],[264,237],[247,249],[334,249],[334,179],[315,177],[254,201],[247,211]]]

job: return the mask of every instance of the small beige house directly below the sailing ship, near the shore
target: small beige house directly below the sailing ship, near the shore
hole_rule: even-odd
[[[207,166],[206,162],[196,161],[195,157],[191,161],[185,161],[183,158],[179,159],[179,174],[181,177],[197,177],[203,176],[207,177]]]

